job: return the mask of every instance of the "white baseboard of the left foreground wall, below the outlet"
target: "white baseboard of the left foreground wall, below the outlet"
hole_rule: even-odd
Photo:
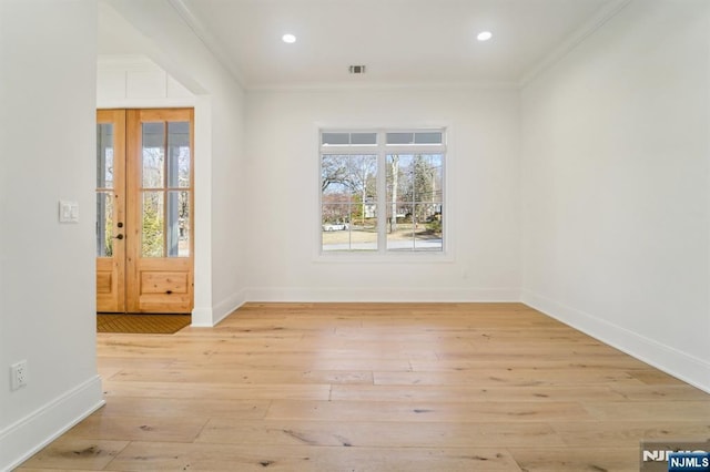
[[[19,466],[104,404],[94,376],[0,431],[0,470]]]

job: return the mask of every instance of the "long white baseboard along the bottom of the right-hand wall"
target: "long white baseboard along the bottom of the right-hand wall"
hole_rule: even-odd
[[[710,363],[594,315],[523,290],[524,304],[710,393]]]

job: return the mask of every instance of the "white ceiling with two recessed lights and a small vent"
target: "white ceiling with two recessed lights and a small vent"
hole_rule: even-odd
[[[169,0],[247,89],[519,83],[623,0]],[[628,1],[628,0],[627,0]],[[490,41],[476,34],[489,30]],[[281,40],[297,37],[294,44]],[[348,66],[364,64],[364,75]]]

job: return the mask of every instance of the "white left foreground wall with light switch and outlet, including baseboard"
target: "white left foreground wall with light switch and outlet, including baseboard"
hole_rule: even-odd
[[[102,404],[95,18],[93,1],[0,1],[0,470]],[[79,223],[59,224],[60,198]],[[19,360],[29,382],[10,391]]]

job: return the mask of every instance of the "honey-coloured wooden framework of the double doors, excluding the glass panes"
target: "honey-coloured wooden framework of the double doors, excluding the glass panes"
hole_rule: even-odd
[[[101,284],[111,284],[111,295],[116,298],[114,309],[102,309],[111,312],[192,312],[195,306],[194,271],[195,271],[195,109],[193,106],[160,107],[160,109],[99,109],[97,123],[113,123],[113,215],[112,215],[112,257],[97,257],[97,302],[102,294]],[[141,120],[141,117],[149,117]],[[183,257],[141,257],[142,227],[142,132],[143,122],[189,121],[190,123],[190,182],[185,191],[189,192],[189,253]],[[165,129],[165,133],[168,129]],[[168,148],[165,148],[168,152]],[[165,163],[168,155],[165,155]],[[129,163],[129,161],[132,161]],[[168,164],[164,164],[168,165]],[[166,175],[165,177],[166,178]],[[166,185],[166,183],[165,183]],[[181,191],[165,187],[163,205],[166,205],[168,194]],[[106,193],[105,188],[97,191]],[[166,224],[165,222],[163,225]],[[116,238],[115,236],[119,236]],[[164,234],[163,237],[165,237]],[[172,269],[172,273],[171,273]],[[142,270],[149,270],[148,279],[142,280]],[[152,270],[152,274],[150,273]],[[176,270],[176,273],[175,273]],[[178,288],[181,276],[185,275],[183,287]],[[158,280],[158,283],[156,283]],[[148,284],[148,286],[146,286]],[[146,289],[146,290],[144,290]],[[163,290],[163,291],[160,291]],[[174,290],[174,291],[173,291]],[[163,298],[162,302],[160,298]],[[108,296],[104,296],[108,299]],[[99,308],[103,308],[103,305]]]

